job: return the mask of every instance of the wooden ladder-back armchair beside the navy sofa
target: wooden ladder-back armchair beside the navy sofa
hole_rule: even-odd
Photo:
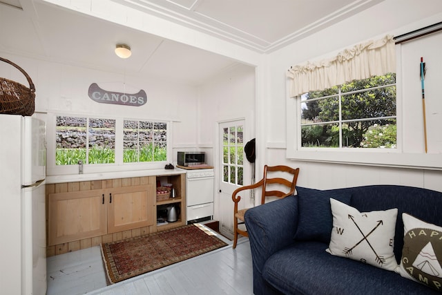
[[[270,173],[269,173],[270,172]],[[288,175],[287,175],[288,173]],[[246,185],[244,187],[239,187],[232,193],[232,200],[235,203],[233,209],[233,249],[236,248],[236,243],[238,242],[238,235],[249,236],[247,234],[247,229],[242,230],[238,228],[238,225],[244,224],[244,213],[247,209],[238,210],[238,203],[241,200],[241,196],[237,196],[241,191],[247,191],[251,189],[258,189],[262,187],[261,204],[265,203],[267,197],[285,198],[291,196],[295,192],[296,181],[298,180],[299,168],[293,169],[289,166],[264,166],[264,175],[262,180],[256,182],[255,184]],[[272,176],[272,178],[269,177]],[[284,176],[286,178],[282,178]],[[270,185],[269,185],[270,184]],[[273,188],[282,189],[281,190],[270,190]],[[240,222],[238,222],[240,220]]]

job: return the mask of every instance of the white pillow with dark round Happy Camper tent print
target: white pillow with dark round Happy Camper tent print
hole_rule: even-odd
[[[403,249],[396,272],[442,291],[442,227],[403,213]]]

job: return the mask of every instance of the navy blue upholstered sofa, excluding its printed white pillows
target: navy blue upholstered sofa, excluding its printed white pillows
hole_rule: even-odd
[[[394,256],[400,263],[402,213],[442,226],[441,192],[397,185],[327,191],[297,187],[297,191],[296,196],[251,208],[244,216],[253,259],[254,294],[440,294],[395,272],[332,256],[325,251],[330,234],[315,234],[314,227],[332,231],[330,209],[323,205],[330,196],[347,196],[347,204],[361,212],[398,208]],[[307,191],[308,196],[300,198],[300,191]],[[310,238],[295,238],[301,218],[302,230],[311,233]],[[306,222],[311,228],[305,227]]]

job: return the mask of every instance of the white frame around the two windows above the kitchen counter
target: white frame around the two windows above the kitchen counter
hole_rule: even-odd
[[[120,171],[133,171],[133,170],[152,170],[152,169],[164,169],[164,165],[172,162],[172,122],[155,119],[140,119],[130,117],[115,117],[115,116],[103,116],[103,115],[90,115],[90,114],[78,114],[78,113],[48,113],[46,121],[46,137],[47,137],[47,155],[46,155],[46,174],[51,175],[75,175],[79,174],[79,165],[57,165],[55,164],[55,151],[56,151],[56,120],[57,116],[70,116],[70,117],[93,117],[115,120],[115,163],[111,164],[84,164],[83,173],[104,173],[104,172],[120,172]],[[150,121],[150,122],[164,122],[167,124],[167,159],[166,161],[159,162],[123,162],[123,122],[124,120],[135,121]]]

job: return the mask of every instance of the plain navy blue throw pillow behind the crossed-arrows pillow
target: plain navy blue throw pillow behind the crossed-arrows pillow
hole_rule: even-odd
[[[330,198],[349,204],[352,194],[296,187],[298,194],[298,229],[295,240],[329,242],[333,227]]]

